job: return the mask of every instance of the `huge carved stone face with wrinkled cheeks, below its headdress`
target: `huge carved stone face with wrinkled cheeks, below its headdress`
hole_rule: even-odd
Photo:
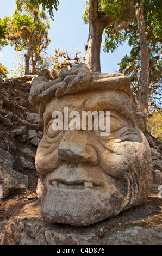
[[[43,113],[36,153],[38,196],[46,221],[90,225],[145,202],[152,184],[151,153],[124,92],[91,90],[53,97]],[[80,130],[52,129],[52,113],[80,113]],[[110,135],[81,130],[82,111],[110,111]],[[69,120],[71,120],[70,118]]]

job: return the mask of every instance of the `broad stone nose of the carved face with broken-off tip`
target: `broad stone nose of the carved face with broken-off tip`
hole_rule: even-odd
[[[88,143],[86,131],[66,131],[58,147],[58,159],[70,163],[87,163],[91,166],[98,164],[97,152]]]

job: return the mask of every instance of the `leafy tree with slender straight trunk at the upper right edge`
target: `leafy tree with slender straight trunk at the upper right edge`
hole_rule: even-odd
[[[125,22],[123,26],[109,26],[105,30],[105,52],[113,52],[126,40],[132,47],[130,56],[126,55],[121,60],[119,71],[130,76],[132,88],[145,113],[149,105],[157,107],[156,102],[160,99],[159,95],[155,101],[154,95],[160,93],[161,82],[161,59],[158,54],[159,42],[162,39],[160,7],[159,0],[145,3],[142,1],[139,7],[141,13],[137,14],[139,8],[135,9],[135,14],[140,16],[139,18],[133,19],[129,24]],[[142,34],[139,29],[141,26]]]

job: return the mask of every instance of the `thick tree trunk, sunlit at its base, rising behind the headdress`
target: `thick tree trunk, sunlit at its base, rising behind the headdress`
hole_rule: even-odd
[[[90,0],[90,20],[88,47],[85,53],[85,64],[91,71],[101,72],[100,49],[102,33],[105,27],[113,23],[106,14],[98,13],[98,0]]]

